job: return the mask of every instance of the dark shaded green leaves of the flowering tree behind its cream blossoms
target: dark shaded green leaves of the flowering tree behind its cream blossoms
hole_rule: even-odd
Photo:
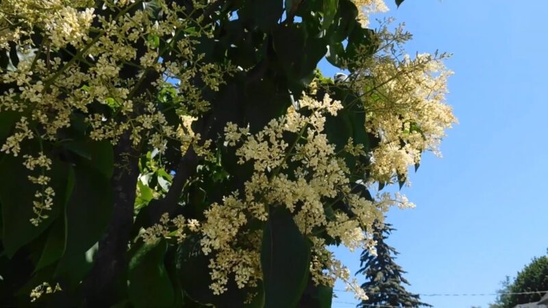
[[[156,14],[154,1],[142,2],[151,10],[151,18],[162,18]],[[184,6],[191,1],[173,2]],[[360,27],[356,21],[358,8],[350,0],[204,2],[210,6],[200,12],[201,20],[215,24],[215,33],[213,38],[200,38],[195,52],[203,53],[203,62],[225,64],[229,60],[242,68],[226,76],[227,84],[219,92],[203,90],[201,93],[211,110],[195,125],[208,127],[206,133],[202,133],[214,142],[227,122],[249,123],[251,132],[255,132],[282,115],[316,76],[316,66],[328,47],[327,60],[338,68],[343,67],[343,60],[356,55],[359,45],[371,47],[371,52],[374,49],[374,32]],[[401,2],[396,1],[397,5]],[[99,9],[101,6],[95,13],[106,19],[112,17],[109,16],[112,12]],[[177,40],[177,36],[173,40]],[[345,41],[347,47],[344,47]],[[166,42],[158,36],[149,36],[143,44],[163,49]],[[9,51],[0,50],[2,69],[23,60],[23,55],[15,50],[13,46]],[[164,56],[165,61],[170,60],[169,55]],[[44,54],[40,57],[46,60]],[[66,51],[51,50],[51,58],[55,57],[74,60]],[[86,65],[80,60],[74,62]],[[123,68],[120,75],[134,79],[135,73],[136,70]],[[173,89],[154,88],[147,82],[143,85],[138,92],[153,92],[158,100],[158,112],[164,114],[170,125],[179,124],[181,114],[175,112],[177,101]],[[12,85],[0,84],[0,92],[10,87]],[[86,91],[85,85],[82,90]],[[349,89],[333,87],[329,94],[343,101],[345,107],[352,104]],[[114,118],[121,105],[114,99],[106,99],[105,104],[96,102],[90,108]],[[363,107],[355,104],[341,114],[328,120],[329,138],[341,148],[352,137],[369,151],[375,138],[363,129]],[[0,144],[13,133],[21,116],[20,112],[2,110]],[[36,125],[30,123],[30,126],[34,129]],[[162,240],[150,245],[142,244],[137,238],[140,229],[157,222],[149,217],[156,207],[168,205],[173,209],[172,216],[183,214],[188,219],[203,219],[208,205],[221,201],[234,190],[241,190],[251,168],[238,164],[234,153],[219,150],[215,162],[203,163],[199,170],[194,166],[192,181],[185,175],[173,197],[169,196],[171,187],[177,184],[176,178],[184,174],[177,173],[184,155],[180,153],[180,142],[169,140],[166,153],[161,156],[141,144],[134,149],[127,142],[129,138],[124,141],[124,136],[112,146],[110,142],[91,140],[89,134],[84,115],[74,112],[71,127],[61,129],[57,136],[60,141],[41,140],[43,144],[38,144],[37,140],[31,140],[23,144],[33,149],[43,146],[45,155],[53,160],[48,175],[55,190],[55,206],[48,212],[49,218],[38,227],[29,222],[34,217],[32,201],[36,186],[27,181],[29,170],[22,164],[23,157],[0,153],[0,307],[90,306],[85,298],[90,288],[86,281],[97,266],[116,267],[114,281],[106,286],[114,290],[108,290],[108,299],[103,302],[105,307],[331,307],[332,289],[313,285],[309,277],[310,243],[283,210],[275,210],[268,222],[253,221],[247,226],[264,232],[261,255],[264,281],[244,290],[232,281],[227,285],[229,291],[221,296],[210,290],[211,256],[203,255],[199,238],[188,236],[182,244]],[[351,166],[360,164],[366,162],[349,162]],[[124,179],[137,183],[127,185],[129,181]],[[364,194],[369,192],[364,190]],[[132,224],[129,226],[116,225],[121,220],[116,216],[116,207],[123,199],[129,200],[129,217],[125,217],[125,221]],[[121,242],[120,255],[112,256],[112,260],[110,255],[103,255],[106,261],[99,264],[99,255],[110,244],[105,239],[113,237]],[[128,246],[131,248],[127,249]],[[112,263],[108,263],[110,261]],[[29,293],[44,282],[60,283],[62,291],[45,294],[37,303],[30,303]],[[101,286],[97,290],[102,290]],[[244,304],[245,295],[249,293],[257,295],[251,303]]]

